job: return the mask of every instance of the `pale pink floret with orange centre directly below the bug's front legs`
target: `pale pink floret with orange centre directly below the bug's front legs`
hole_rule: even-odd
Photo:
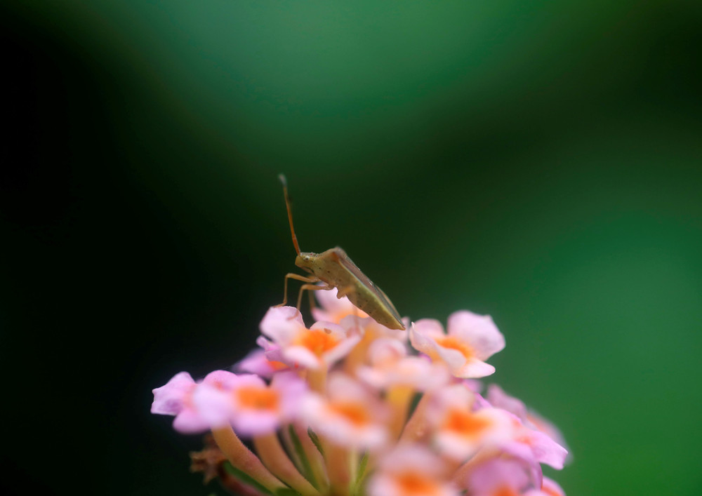
[[[329,368],[361,339],[359,335],[331,322],[317,322],[308,329],[294,307],[268,309],[260,323],[260,330],[280,347],[279,354],[269,354],[268,358],[279,359],[293,368]]]

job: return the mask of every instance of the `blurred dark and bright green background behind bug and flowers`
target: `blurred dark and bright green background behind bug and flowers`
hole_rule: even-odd
[[[209,495],[151,389],[225,368],[303,250],[491,314],[568,495],[699,495],[699,1],[25,1],[4,51],[4,466]]]

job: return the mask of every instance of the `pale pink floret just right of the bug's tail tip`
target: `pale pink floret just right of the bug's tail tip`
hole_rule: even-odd
[[[439,321],[421,319],[411,327],[412,346],[444,361],[456,377],[485,377],[495,368],[484,361],[505,347],[505,337],[489,315],[473,314],[467,310],[449,316],[449,333]]]

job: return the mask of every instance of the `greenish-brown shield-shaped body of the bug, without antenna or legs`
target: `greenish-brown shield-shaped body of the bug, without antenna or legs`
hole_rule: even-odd
[[[300,253],[295,259],[295,264],[311,272],[328,286],[337,288],[338,297],[348,297],[352,304],[365,311],[379,324],[390,329],[404,330],[402,320],[390,298],[373,284],[338,246],[322,253]]]

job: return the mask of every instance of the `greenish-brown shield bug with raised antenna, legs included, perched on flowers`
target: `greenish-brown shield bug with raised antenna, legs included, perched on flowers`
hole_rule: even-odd
[[[288,280],[296,279],[303,281],[298,295],[298,309],[302,301],[303,291],[331,290],[336,288],[337,297],[348,297],[357,308],[362,309],[379,324],[390,329],[404,330],[404,324],[400,319],[397,309],[390,302],[383,290],[378,288],[368,279],[368,276],[361,272],[354,262],[346,255],[346,252],[336,246],[322,253],[300,252],[298,237],[293,227],[293,211],[290,206],[288,196],[288,184],[284,175],[279,175],[280,182],[283,183],[283,194],[285,195],[285,206],[288,209],[288,220],[290,222],[290,232],[293,236],[293,245],[297,256],[295,264],[311,276],[301,276],[300,274],[286,274],[283,302],[288,301]],[[317,286],[314,283],[323,282],[326,286]]]

